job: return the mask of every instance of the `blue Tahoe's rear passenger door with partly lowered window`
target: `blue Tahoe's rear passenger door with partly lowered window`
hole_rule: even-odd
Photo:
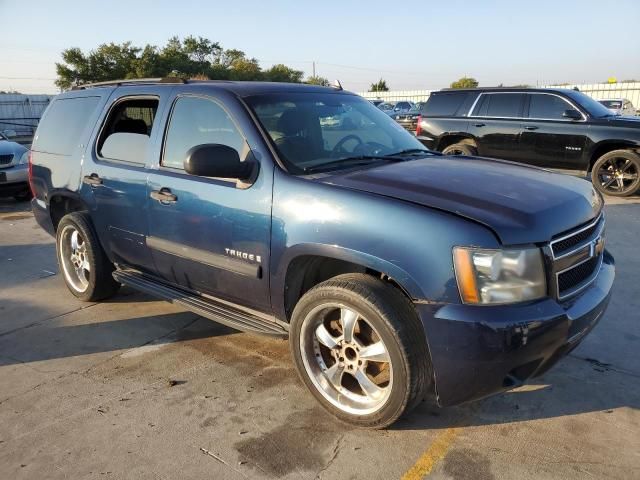
[[[120,264],[150,273],[155,267],[146,243],[146,165],[170,90],[115,89],[82,167],[81,192],[107,252]]]

